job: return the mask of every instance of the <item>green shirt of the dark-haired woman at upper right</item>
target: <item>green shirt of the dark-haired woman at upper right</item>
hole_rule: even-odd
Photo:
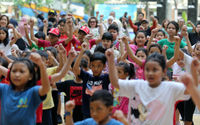
[[[167,59],[171,59],[174,56],[174,46],[175,42],[169,42],[168,39],[162,39],[158,41],[158,44],[163,47],[164,45],[168,46],[168,49],[166,51]],[[184,48],[187,44],[183,41],[181,41],[180,48]]]

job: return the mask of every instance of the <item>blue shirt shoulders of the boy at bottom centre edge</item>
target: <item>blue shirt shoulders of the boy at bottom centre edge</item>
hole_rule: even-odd
[[[98,125],[96,121],[93,118],[88,118],[80,122],[76,122],[74,125]],[[121,122],[111,119],[107,124],[105,125],[123,125]]]

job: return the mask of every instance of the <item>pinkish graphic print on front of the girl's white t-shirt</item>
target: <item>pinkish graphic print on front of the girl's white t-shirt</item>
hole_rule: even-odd
[[[130,100],[130,119],[132,125],[152,124],[160,120],[165,112],[166,107],[159,100],[153,100],[146,107],[142,104],[137,94]]]

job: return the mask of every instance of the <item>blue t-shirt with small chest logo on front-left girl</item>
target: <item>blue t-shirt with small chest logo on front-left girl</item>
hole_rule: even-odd
[[[39,86],[14,91],[10,85],[0,84],[1,125],[35,125],[36,109],[42,102]]]

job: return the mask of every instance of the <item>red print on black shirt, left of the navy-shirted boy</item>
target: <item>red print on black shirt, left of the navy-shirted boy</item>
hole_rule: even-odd
[[[75,100],[76,105],[82,105],[82,86],[70,86],[70,100]]]

